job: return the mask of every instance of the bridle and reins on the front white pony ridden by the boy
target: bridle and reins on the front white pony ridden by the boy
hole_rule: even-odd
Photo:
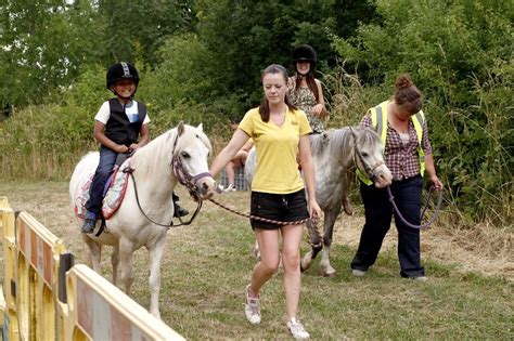
[[[177,136],[175,137],[175,142],[174,142],[174,148],[172,148],[172,152],[171,152],[171,155],[175,155],[175,148],[177,147],[177,142],[179,140],[179,133],[177,133]],[[204,178],[213,178],[213,174],[210,174],[210,172],[203,172],[203,173],[200,173],[200,174],[196,174],[196,175],[191,175],[190,172],[188,172],[188,170],[184,168],[183,163],[182,163],[182,159],[180,157],[180,155],[176,155],[172,157],[171,159],[171,162],[170,162],[170,166],[171,166],[171,169],[172,169],[172,172],[175,174],[175,176],[177,178],[177,181],[181,184],[181,185],[184,185],[185,188],[188,188],[188,192],[189,194],[193,197],[193,199],[196,201],[196,209],[195,211],[193,212],[193,215],[191,217],[191,219],[187,222],[183,222],[182,219],[179,217],[178,220],[180,221],[180,224],[177,224],[177,225],[174,225],[174,220],[171,219],[171,221],[169,222],[169,224],[162,224],[162,223],[157,223],[155,222],[153,219],[151,219],[143,210],[143,208],[141,207],[141,204],[139,201],[139,195],[138,195],[138,186],[136,184],[136,179],[133,176],[133,172],[134,172],[134,169],[133,168],[126,168],[124,169],[124,172],[126,173],[129,173],[130,178],[132,179],[132,184],[133,184],[133,189],[134,189],[134,194],[136,194],[136,201],[138,202],[138,207],[139,207],[139,210],[141,211],[141,213],[153,224],[155,225],[158,225],[158,226],[164,226],[164,227],[178,227],[178,226],[182,226],[182,225],[190,225],[193,220],[196,218],[196,214],[198,214],[200,210],[202,209],[202,204],[203,201],[200,199],[201,198],[201,195],[200,195],[200,191],[196,186],[196,183],[201,180],[201,179],[204,179]]]

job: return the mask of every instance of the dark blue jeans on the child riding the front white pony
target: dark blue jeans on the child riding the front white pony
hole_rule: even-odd
[[[89,200],[86,202],[86,209],[89,212],[95,213],[97,217],[100,214],[102,209],[103,188],[105,183],[113,171],[114,165],[116,163],[116,157],[118,153],[110,149],[105,146],[100,148],[100,162],[97,171],[94,172],[91,187],[89,188]]]

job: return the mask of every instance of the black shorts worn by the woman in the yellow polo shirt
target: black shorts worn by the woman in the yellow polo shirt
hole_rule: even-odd
[[[309,218],[305,191],[290,194],[252,192],[250,214],[280,222],[297,222]],[[249,220],[252,228],[278,229],[281,224]]]

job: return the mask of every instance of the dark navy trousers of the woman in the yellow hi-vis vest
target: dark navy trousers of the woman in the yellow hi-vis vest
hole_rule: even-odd
[[[403,218],[411,224],[420,225],[423,191],[421,176],[393,182],[390,189]],[[386,188],[378,189],[374,185],[361,184],[360,193],[364,202],[365,223],[360,236],[359,248],[350,264],[351,268],[367,271],[375,263],[394,214],[398,229],[400,276],[424,276],[425,270],[421,266],[420,229],[407,226],[397,217],[389,202]]]

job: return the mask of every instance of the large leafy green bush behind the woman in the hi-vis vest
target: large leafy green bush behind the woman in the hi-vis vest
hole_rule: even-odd
[[[403,0],[377,1],[377,11],[381,24],[361,26],[356,39],[334,38],[335,49],[365,70],[372,93],[409,73],[425,94],[450,204],[473,220],[511,221],[514,5]],[[358,99],[368,99],[368,86]]]

